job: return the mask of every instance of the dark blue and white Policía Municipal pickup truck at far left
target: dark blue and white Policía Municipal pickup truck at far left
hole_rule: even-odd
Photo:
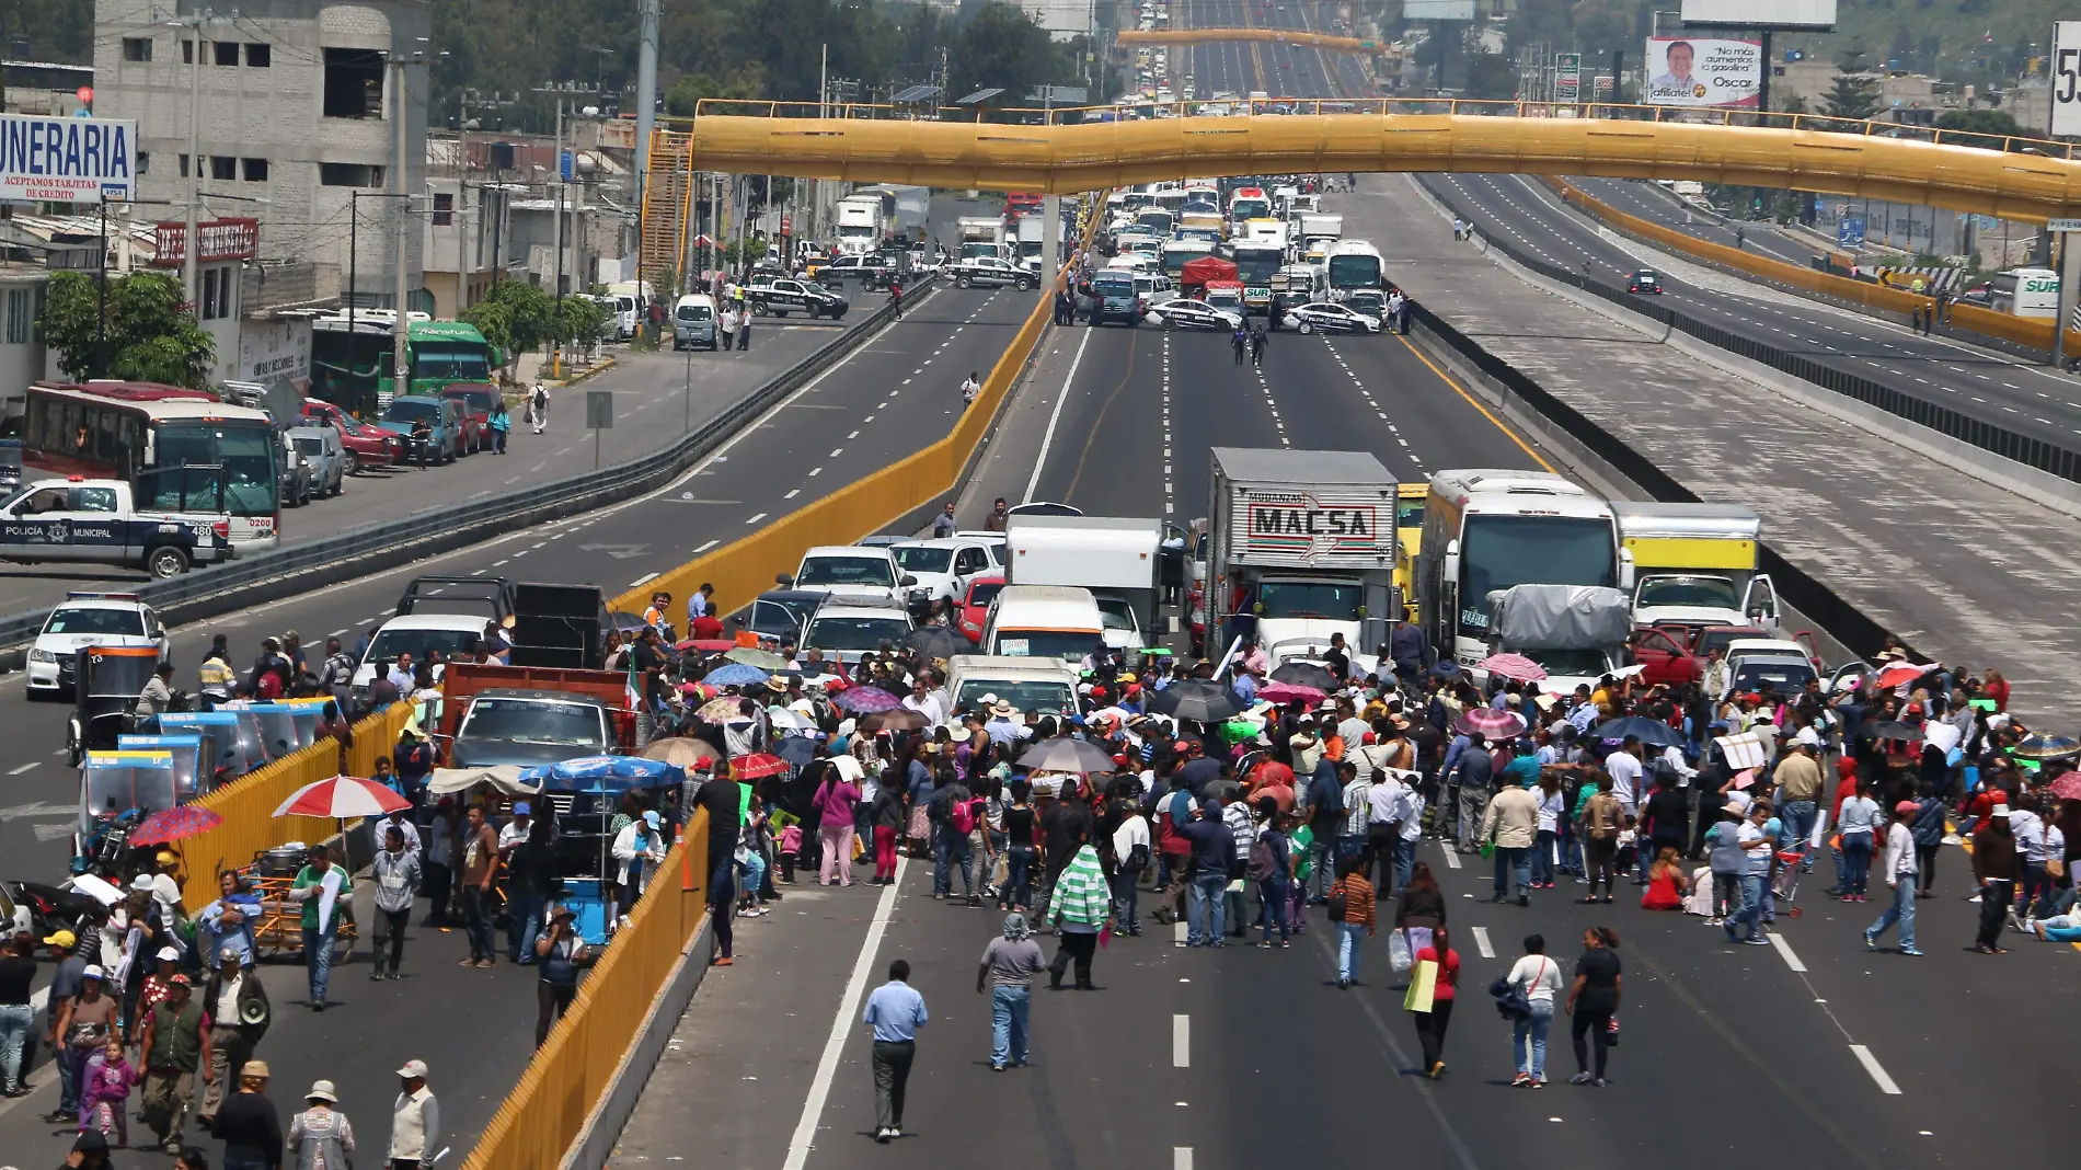
[[[179,577],[231,560],[231,516],[139,512],[121,479],[33,479],[0,502],[0,560],[121,564]]]

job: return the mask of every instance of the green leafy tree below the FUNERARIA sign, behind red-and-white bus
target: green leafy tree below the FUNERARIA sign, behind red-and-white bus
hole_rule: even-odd
[[[106,312],[87,273],[52,273],[37,327],[71,379],[114,377],[208,389],[216,344],[187,312],[181,281],[131,273],[108,281]],[[104,362],[98,362],[106,354]]]

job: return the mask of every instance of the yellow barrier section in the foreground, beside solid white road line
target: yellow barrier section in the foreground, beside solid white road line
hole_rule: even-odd
[[[562,1164],[614,1083],[631,1039],[643,1031],[658,989],[680,962],[708,962],[705,953],[687,953],[708,912],[705,887],[708,812],[695,812],[462,1170],[554,1170]]]

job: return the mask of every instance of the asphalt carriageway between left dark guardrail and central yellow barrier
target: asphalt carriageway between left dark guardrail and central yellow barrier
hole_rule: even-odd
[[[258,652],[262,635],[285,629],[318,641],[337,633],[352,643],[387,616],[416,573],[593,581],[610,593],[641,583],[945,435],[961,406],[961,379],[997,360],[1032,304],[1032,294],[934,289],[901,323],[680,481],[410,570],[175,629],[179,681],[189,681],[214,633],[227,633],[241,660]],[[0,681],[0,737],[17,743],[23,760],[15,774],[0,777],[6,793],[0,795],[0,858],[10,876],[50,879],[65,864],[77,772],[56,754],[62,729],[65,708],[23,702],[19,677]],[[360,962],[335,972],[329,995],[339,1003],[335,1010],[323,1016],[283,1010],[260,1053],[275,1062],[275,1099],[287,1105],[312,1078],[333,1078],[341,1108],[362,1124],[364,1143],[381,1141],[395,1091],[391,1070],[420,1055],[435,1070],[449,1145],[468,1149],[533,1043],[535,991],[526,974],[506,966],[493,972],[456,968],[464,949],[460,935],[422,929],[408,943],[410,978],[404,983],[370,987],[366,962]],[[298,968],[271,970],[266,983],[277,1006],[306,997]],[[37,1083],[35,1095],[0,1103],[0,1164],[58,1164],[69,1147],[35,1122],[56,1097],[54,1076],[46,1072]],[[214,1143],[210,1149],[214,1153]],[[372,1162],[366,1153],[362,1160]],[[125,1166],[166,1162],[148,1153],[123,1158]]]

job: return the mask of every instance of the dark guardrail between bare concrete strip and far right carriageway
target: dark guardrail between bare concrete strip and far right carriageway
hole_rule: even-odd
[[[1638,312],[1659,325],[1667,325],[1700,341],[1727,350],[1729,354],[1748,358],[1752,362],[1763,362],[1775,371],[1783,371],[1796,379],[1819,385],[1821,389],[1852,398],[1867,406],[1875,406],[1898,418],[1906,418],[1917,427],[1927,427],[1939,435],[1958,439],[1960,443],[1992,452],[2023,466],[2056,475],[2060,479],[2081,483],[2081,450],[2052,443],[2025,435],[2021,431],[2010,431],[1998,423],[1987,423],[1985,418],[1975,418],[1962,414],[1933,400],[1894,389],[1890,385],[1879,385],[1867,377],[1852,375],[1848,371],[1833,368],[1825,362],[1817,362],[1804,354],[1792,354],[1769,341],[1756,337],[1744,337],[1731,329],[1721,329],[1709,321],[1700,321],[1688,312],[1669,308],[1650,298],[1629,296],[1617,285],[1607,285],[1594,281],[1575,269],[1565,269],[1550,260],[1532,256],[1513,244],[1496,239],[1492,235],[1484,237],[1488,248],[1502,252],[1517,264],[1532,269],[1534,273],[1577,287],[1590,296],[1598,296],[1625,308],[1627,312]]]

